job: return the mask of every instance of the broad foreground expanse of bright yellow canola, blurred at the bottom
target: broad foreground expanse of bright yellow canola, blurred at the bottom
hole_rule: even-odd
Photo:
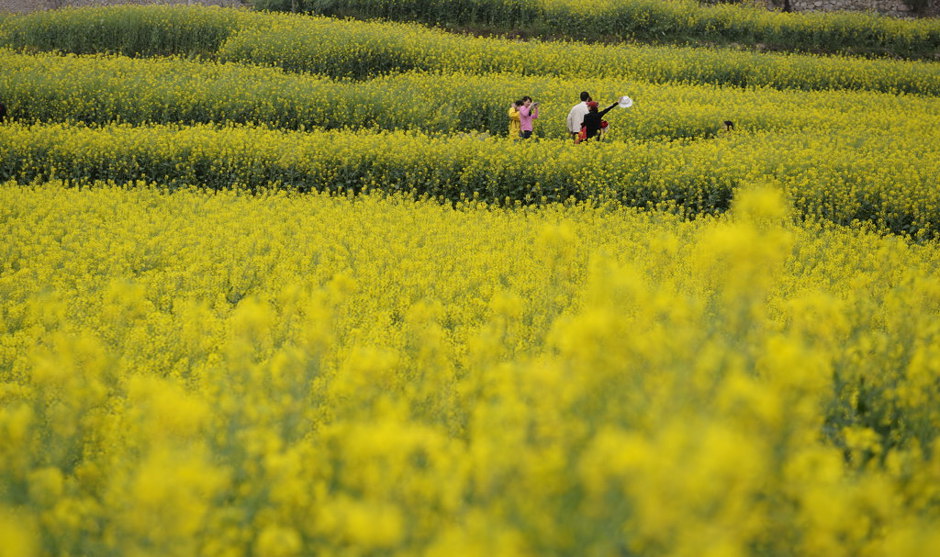
[[[398,196],[0,186],[17,555],[940,549],[940,251]]]

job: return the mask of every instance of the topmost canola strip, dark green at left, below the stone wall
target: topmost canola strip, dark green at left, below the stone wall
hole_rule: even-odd
[[[866,13],[779,13],[693,0],[252,0],[258,8],[418,21],[586,41],[735,44],[796,52],[940,57],[940,23]]]

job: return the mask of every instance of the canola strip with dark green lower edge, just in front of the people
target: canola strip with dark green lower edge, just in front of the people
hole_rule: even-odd
[[[408,132],[7,125],[0,179],[409,192],[509,204],[607,200],[685,217],[724,212],[742,186],[771,181],[800,218],[937,234],[936,143],[890,133],[838,139],[805,132],[578,146]]]

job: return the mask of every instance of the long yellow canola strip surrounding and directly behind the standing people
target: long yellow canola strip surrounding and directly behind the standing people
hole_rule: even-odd
[[[507,134],[506,110],[530,95],[541,102],[536,136],[567,137],[580,91],[635,105],[608,113],[609,138],[709,138],[730,120],[738,131],[895,133],[931,143],[940,100],[878,93],[742,90],[618,79],[400,74],[334,81],[274,68],[188,60],[23,55],[0,50],[0,98],[21,121],[89,124],[255,123],[288,129],[412,129]]]

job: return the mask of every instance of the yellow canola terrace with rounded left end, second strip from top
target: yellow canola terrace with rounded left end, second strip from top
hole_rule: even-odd
[[[937,95],[936,62],[767,54],[729,49],[512,41],[418,25],[281,16],[234,33],[223,60],[355,78],[409,69],[603,76],[654,83]]]

